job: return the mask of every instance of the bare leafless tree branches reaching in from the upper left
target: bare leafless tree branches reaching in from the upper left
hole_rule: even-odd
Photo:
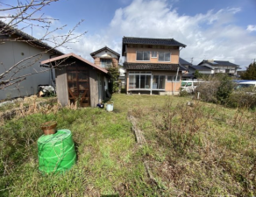
[[[24,42],[31,46],[36,46],[40,49],[39,53],[25,57],[23,60],[18,60],[13,65],[4,65],[0,60],[0,67],[4,67],[4,72],[0,72],[0,90],[18,86],[20,81],[32,74],[39,74],[48,71],[51,68],[33,67],[36,62],[42,60],[46,53],[54,52],[56,55],[61,55],[58,48],[68,47],[68,43],[75,42],[86,32],[75,34],[76,28],[81,25],[82,21],[78,22],[75,27],[67,33],[60,34],[59,31],[64,30],[67,25],[53,27],[53,22],[57,19],[46,17],[43,9],[59,0],[18,0],[17,4],[4,4],[0,2],[0,47],[8,42]],[[34,38],[32,33],[35,29],[39,29],[40,38]],[[30,34],[28,32],[30,30]],[[55,67],[57,67],[55,65]],[[32,67],[32,69],[28,69]],[[27,72],[22,72],[27,70]]]

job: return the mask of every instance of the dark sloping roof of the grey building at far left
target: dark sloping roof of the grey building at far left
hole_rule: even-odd
[[[8,35],[17,34],[20,37],[17,39],[18,41],[26,40],[26,42],[28,42],[28,43],[33,43],[36,46],[40,46],[40,47],[43,47],[44,49],[51,50],[51,52],[53,52],[53,53],[57,53],[60,55],[64,54],[64,53],[60,52],[59,50],[53,48],[52,46],[48,46],[45,42],[42,42],[39,39],[36,39],[36,38],[30,36],[29,34],[22,32],[14,27],[6,25],[1,20],[0,20],[0,28],[1,28],[0,36],[8,36]]]

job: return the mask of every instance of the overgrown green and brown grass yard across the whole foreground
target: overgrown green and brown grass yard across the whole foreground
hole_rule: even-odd
[[[60,109],[0,127],[0,196],[253,196],[256,113],[188,98],[113,95],[114,111]],[[137,119],[139,146],[127,114]],[[38,170],[40,124],[72,131],[77,163],[64,174]],[[147,162],[154,179],[149,179]]]

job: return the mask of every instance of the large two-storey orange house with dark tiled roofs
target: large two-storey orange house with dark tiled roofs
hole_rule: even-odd
[[[186,46],[175,39],[124,37],[126,93],[177,94],[186,70],[179,64],[180,47]]]

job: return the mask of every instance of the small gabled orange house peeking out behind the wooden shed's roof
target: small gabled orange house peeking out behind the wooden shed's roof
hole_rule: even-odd
[[[95,65],[99,67],[118,67],[120,54],[105,46],[96,52],[90,53]]]

